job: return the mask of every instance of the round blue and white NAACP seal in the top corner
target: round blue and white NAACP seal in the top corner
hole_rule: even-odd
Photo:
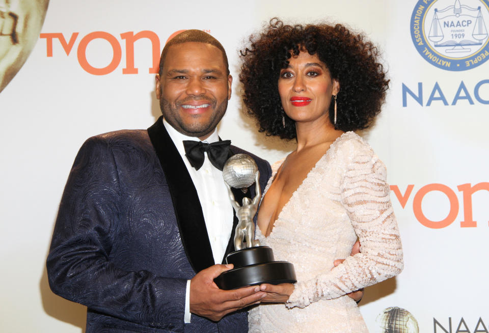
[[[430,64],[450,71],[489,59],[489,0],[419,0],[411,16],[411,38]]]

